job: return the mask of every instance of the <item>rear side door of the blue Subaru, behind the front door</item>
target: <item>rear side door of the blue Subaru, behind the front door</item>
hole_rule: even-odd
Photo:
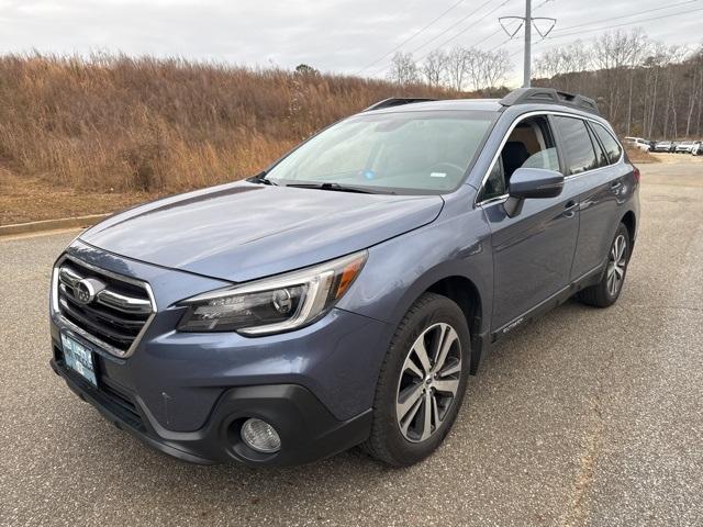
[[[558,121],[557,126],[561,125]],[[626,194],[625,179],[629,172],[620,162],[623,149],[611,132],[594,121],[588,122],[587,126],[599,162],[593,170],[572,178],[580,203],[579,238],[571,271],[573,281],[598,271],[605,261],[617,228],[618,206],[624,203],[622,197]]]

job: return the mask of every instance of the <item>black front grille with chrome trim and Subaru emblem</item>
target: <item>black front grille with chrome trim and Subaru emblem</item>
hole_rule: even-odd
[[[80,298],[81,281],[99,284],[90,300]],[[54,279],[54,307],[69,327],[118,357],[132,355],[156,313],[147,283],[66,256]]]

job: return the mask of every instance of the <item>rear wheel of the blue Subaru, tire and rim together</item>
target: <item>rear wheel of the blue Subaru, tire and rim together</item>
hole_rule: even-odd
[[[618,244],[624,244],[624,247],[621,248]],[[625,224],[621,223],[607,251],[607,262],[601,281],[580,291],[578,299],[584,304],[596,307],[613,305],[623,290],[631,254],[632,240],[629,231],[627,231]]]

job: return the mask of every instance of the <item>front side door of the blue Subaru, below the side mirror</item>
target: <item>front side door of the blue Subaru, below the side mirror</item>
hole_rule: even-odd
[[[532,154],[522,166],[561,170],[551,120],[547,115],[528,119],[536,120],[543,128],[544,152]],[[517,124],[513,124],[504,139],[502,153],[513,143]],[[495,184],[500,166],[510,164],[510,160],[507,164],[501,161],[505,161],[503,154],[496,155],[484,186],[500,187]],[[505,188],[509,187],[507,180]],[[557,198],[525,200],[522,212],[514,217],[510,217],[503,206],[506,192],[498,197],[479,194],[480,206],[491,228],[493,249],[492,330],[502,333],[569,285],[579,225],[577,191],[569,182]]]

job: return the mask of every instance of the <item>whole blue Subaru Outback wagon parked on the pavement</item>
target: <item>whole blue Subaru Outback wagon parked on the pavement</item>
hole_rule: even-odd
[[[588,98],[389,99],[82,233],[54,267],[52,368],[188,461],[415,463],[495,341],[617,300],[638,187]]]

